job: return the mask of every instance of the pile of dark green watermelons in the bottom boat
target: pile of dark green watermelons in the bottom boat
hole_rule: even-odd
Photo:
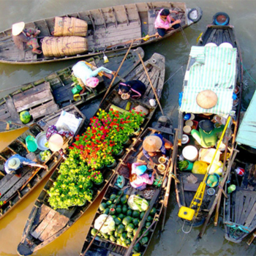
[[[110,200],[105,203],[101,203],[99,205],[99,210],[102,214],[109,214],[113,217],[115,221],[115,230],[110,231],[110,233],[99,233],[97,236],[99,238],[110,240],[112,243],[119,244],[121,246],[128,247],[131,244],[133,237],[135,236],[138,227],[140,227],[140,221],[143,219],[145,211],[132,211],[127,204],[127,200],[129,195],[123,195],[118,199],[121,195],[121,191],[117,194],[110,195]],[[116,204],[116,206],[115,206]],[[154,219],[154,215],[156,214],[157,209],[152,208],[148,218],[146,220],[146,224],[140,230],[138,238],[146,231],[146,229],[151,225]],[[91,235],[95,236],[97,233],[97,229],[91,229]],[[141,244],[148,243],[148,232],[145,233],[142,239],[140,239],[140,243],[136,244],[133,248],[135,252],[140,252]]]

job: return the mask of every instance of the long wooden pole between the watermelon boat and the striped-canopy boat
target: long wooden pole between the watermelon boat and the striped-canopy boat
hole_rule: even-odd
[[[178,133],[176,132],[175,134],[175,139],[173,142],[173,154],[172,154],[172,159],[171,159],[171,163],[170,163],[170,169],[169,169],[169,176],[168,176],[168,181],[167,181],[167,188],[165,191],[165,199],[164,199],[164,216],[162,218],[162,230],[164,230],[165,227],[165,217],[166,217],[166,211],[167,211],[167,204],[168,204],[168,199],[169,199],[169,195],[170,195],[170,184],[172,181],[172,173],[173,173],[173,166],[174,166],[174,162],[176,161],[176,151],[178,148]]]

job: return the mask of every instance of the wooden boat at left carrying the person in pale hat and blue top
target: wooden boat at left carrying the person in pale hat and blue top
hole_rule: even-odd
[[[81,116],[83,116],[83,113],[81,113],[78,108],[73,105],[68,106],[68,108],[64,108],[64,110],[66,110],[68,113],[78,112]],[[58,152],[53,152],[47,161],[42,162],[39,160],[39,149],[37,149],[37,151],[34,153],[30,153],[28,147],[26,146],[27,136],[31,135],[36,138],[40,132],[48,129],[48,124],[50,124],[50,121],[55,121],[53,124],[56,124],[60,114],[61,110],[59,110],[54,117],[48,116],[48,123],[44,123],[45,125],[43,127],[39,126],[39,124],[34,124],[0,152],[0,193],[1,202],[5,202],[0,206],[0,219],[11,211],[12,208],[17,206],[18,203],[20,203],[20,201],[23,200],[27,195],[29,195],[29,193],[32,192],[34,188],[37,187],[37,185],[56,168],[59,162],[61,162],[62,157]],[[84,121],[85,117],[83,116],[83,121],[80,124],[80,128],[83,127]],[[80,128],[78,128],[78,131]],[[69,140],[66,140],[63,148],[66,148],[68,143]],[[21,157],[26,157],[33,160],[37,159],[37,162],[41,165],[47,165],[48,170],[41,167],[30,167],[29,165],[24,165],[21,172],[21,177],[7,174],[4,171],[4,163],[14,154],[20,154]]]

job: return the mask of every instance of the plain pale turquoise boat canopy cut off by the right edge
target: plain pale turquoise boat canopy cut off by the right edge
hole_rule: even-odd
[[[256,92],[252,97],[249,107],[244,114],[244,118],[238,128],[238,135],[236,136],[236,142],[256,148]]]

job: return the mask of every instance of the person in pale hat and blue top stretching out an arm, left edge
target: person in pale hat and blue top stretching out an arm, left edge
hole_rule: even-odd
[[[14,154],[12,157],[7,159],[4,164],[4,170],[8,174],[15,174],[16,176],[21,176],[21,170],[23,165],[29,165],[31,167],[41,167],[47,169],[47,165],[39,165],[36,162],[27,159],[26,157],[21,157],[19,154]]]

